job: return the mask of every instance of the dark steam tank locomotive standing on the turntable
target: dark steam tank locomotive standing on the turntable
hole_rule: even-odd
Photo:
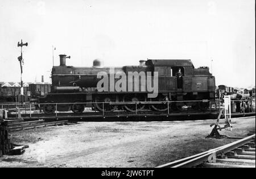
[[[72,103],[57,105],[57,111],[72,110],[74,113],[82,113],[85,107],[105,112],[114,110],[133,112],[143,109],[167,111],[167,105],[164,103],[166,101],[174,101],[170,103],[171,110],[187,108],[205,110],[211,107],[208,102],[214,101],[214,76],[209,73],[208,67],[195,68],[191,60],[141,60],[136,66],[115,67],[114,73],[126,74],[125,78],[130,78],[128,73],[133,73],[131,79],[126,80],[126,85],[122,86],[125,89],[132,86],[133,90],[100,91],[97,89],[97,84],[101,78],[97,78],[97,74],[104,72],[110,78],[113,68],[102,68],[98,60],[93,61],[92,67],[67,66],[65,64],[67,58],[70,59],[70,56],[60,55],[60,65],[52,68],[52,91],[45,97],[39,98],[39,103],[48,103],[42,105],[46,114],[55,113],[55,103]],[[176,72],[179,69],[183,75],[178,78]],[[147,78],[152,80],[151,85],[154,84],[154,72],[158,72],[158,95],[155,98],[148,98],[148,94],[152,91],[146,86],[143,87],[140,72],[146,74],[151,72],[152,78]],[[121,77],[115,76],[114,81],[117,82]],[[134,84],[135,78],[139,79],[138,84]],[[109,84],[104,85],[108,85],[108,89],[112,88]],[[136,85],[141,87],[138,88]],[[197,100],[201,102],[196,102]],[[152,103],[145,105],[143,102],[146,101]],[[85,106],[83,102],[88,103]]]

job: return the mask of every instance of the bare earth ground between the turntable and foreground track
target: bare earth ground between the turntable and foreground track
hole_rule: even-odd
[[[79,122],[11,132],[13,143],[29,148],[0,157],[0,167],[155,167],[237,140],[206,139],[215,122]],[[233,131],[222,135],[255,131],[255,116],[232,122]]]

